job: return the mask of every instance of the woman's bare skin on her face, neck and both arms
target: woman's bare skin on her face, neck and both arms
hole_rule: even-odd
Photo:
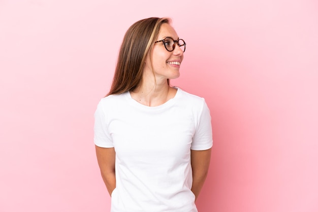
[[[171,37],[178,40],[178,35],[174,28],[164,23],[158,34],[157,40]],[[151,58],[150,58],[151,57]],[[150,59],[152,61],[152,67]],[[163,42],[158,42],[153,46],[151,54],[147,56],[144,68],[143,79],[140,86],[131,92],[131,96],[141,104],[149,107],[161,105],[173,98],[177,92],[175,88],[168,85],[167,79],[176,79],[180,76],[179,65],[169,64],[169,61],[183,60],[183,51],[178,45],[172,52],[166,50]],[[116,187],[115,179],[115,150],[114,148],[101,148],[96,146],[98,164],[101,169],[102,178],[109,194]],[[196,200],[206,179],[210,164],[211,149],[203,151],[191,150],[191,165],[193,171],[192,192]]]

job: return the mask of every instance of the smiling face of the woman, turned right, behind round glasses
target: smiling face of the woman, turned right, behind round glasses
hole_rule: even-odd
[[[156,41],[164,40],[170,37],[178,40],[179,37],[174,28],[164,23],[161,25]],[[176,79],[180,76],[179,68],[183,60],[183,51],[175,44],[173,51],[166,50],[163,42],[155,43],[151,52],[152,68],[156,80]],[[148,64],[147,64],[148,63]],[[146,62],[146,68],[151,67],[149,60]]]

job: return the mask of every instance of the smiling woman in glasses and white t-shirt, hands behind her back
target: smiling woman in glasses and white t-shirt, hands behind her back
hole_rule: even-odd
[[[125,33],[94,126],[113,212],[198,211],[212,130],[205,100],[170,86],[185,46],[167,18],[137,21]]]

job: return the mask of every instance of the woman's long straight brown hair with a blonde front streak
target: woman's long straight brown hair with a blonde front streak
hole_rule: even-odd
[[[163,23],[169,18],[146,18],[134,23],[125,33],[109,93],[134,91],[140,84],[146,56],[150,53]],[[168,80],[169,84],[169,80]]]

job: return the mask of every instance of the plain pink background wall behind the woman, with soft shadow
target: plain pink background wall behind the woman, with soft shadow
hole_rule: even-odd
[[[0,0],[0,211],[108,211],[93,113],[124,32],[169,16],[214,146],[200,212],[318,211],[318,3]]]

